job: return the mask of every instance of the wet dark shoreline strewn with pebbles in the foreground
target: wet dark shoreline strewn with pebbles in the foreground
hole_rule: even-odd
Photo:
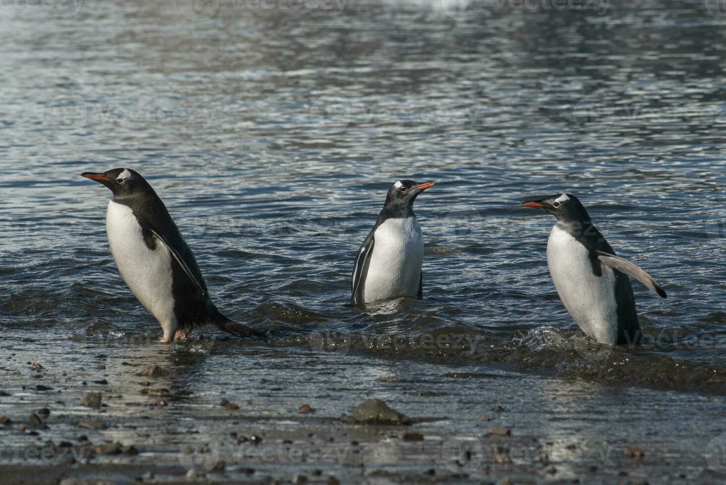
[[[241,345],[4,341],[1,473],[67,484],[726,478],[704,455],[726,432],[723,397]],[[81,405],[91,392],[98,409]],[[412,424],[341,420],[368,398]]]

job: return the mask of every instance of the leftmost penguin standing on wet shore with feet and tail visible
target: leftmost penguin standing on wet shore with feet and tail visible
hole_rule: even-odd
[[[123,281],[159,321],[161,342],[186,339],[197,326],[214,325],[242,337],[263,336],[222,315],[166,206],[139,173],[117,168],[81,174],[113,192],[106,232]]]

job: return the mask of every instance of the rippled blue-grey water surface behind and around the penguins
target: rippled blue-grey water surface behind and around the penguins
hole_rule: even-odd
[[[269,345],[726,394],[726,20],[507,5],[4,8],[4,339],[160,332],[110,255],[110,193],[79,176],[131,167],[220,309]],[[436,181],[415,204],[424,299],[351,307],[354,254],[401,178]],[[519,206],[558,191],[668,292],[634,283],[644,348],[588,344],[560,303],[554,220]]]

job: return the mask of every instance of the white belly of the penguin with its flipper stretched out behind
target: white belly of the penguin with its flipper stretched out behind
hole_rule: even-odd
[[[575,323],[601,344],[615,344],[618,315],[613,270],[600,265],[603,275],[596,276],[585,246],[557,225],[547,241],[547,265]]]

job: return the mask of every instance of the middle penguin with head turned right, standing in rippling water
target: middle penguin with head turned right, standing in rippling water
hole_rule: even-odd
[[[351,278],[353,304],[416,297],[423,292],[423,234],[413,202],[433,182],[398,181],[358,251]]]

